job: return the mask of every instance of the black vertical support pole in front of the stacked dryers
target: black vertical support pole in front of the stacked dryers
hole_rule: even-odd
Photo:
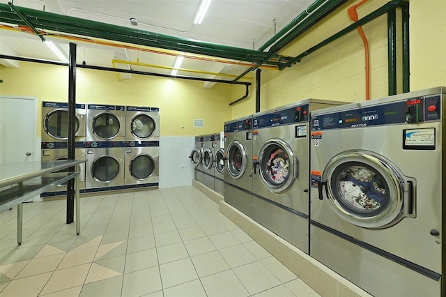
[[[70,43],[70,63],[68,64],[68,160],[75,159],[76,121],[76,44]],[[70,168],[74,172],[75,168]],[[74,222],[75,180],[67,183],[67,224]]]

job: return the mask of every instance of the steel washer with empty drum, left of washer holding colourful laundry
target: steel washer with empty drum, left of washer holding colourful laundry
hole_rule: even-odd
[[[224,201],[252,216],[252,116],[224,123]]]

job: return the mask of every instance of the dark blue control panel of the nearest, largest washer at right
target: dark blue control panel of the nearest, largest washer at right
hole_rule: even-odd
[[[312,116],[312,130],[361,128],[440,119],[441,97],[418,97],[399,102]]]

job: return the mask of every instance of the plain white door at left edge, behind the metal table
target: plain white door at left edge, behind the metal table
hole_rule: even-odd
[[[0,164],[37,160],[35,138],[36,98],[0,96]]]

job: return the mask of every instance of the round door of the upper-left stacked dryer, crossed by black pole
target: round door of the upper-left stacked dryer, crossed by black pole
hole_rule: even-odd
[[[48,112],[43,119],[43,128],[47,134],[55,139],[68,139],[68,111],[54,109]],[[75,116],[75,133],[79,130],[79,117]]]

